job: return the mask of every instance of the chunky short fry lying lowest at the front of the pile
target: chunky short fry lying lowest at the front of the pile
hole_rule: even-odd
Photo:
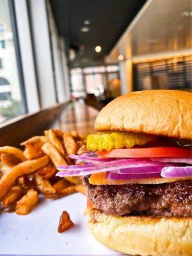
[[[17,201],[16,213],[19,215],[26,215],[32,211],[38,203],[38,193],[34,189],[29,189],[26,195]]]

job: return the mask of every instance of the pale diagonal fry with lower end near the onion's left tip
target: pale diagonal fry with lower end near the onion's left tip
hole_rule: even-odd
[[[52,163],[57,167],[59,165],[66,165],[67,162],[65,161],[64,157],[60,155],[58,150],[50,143],[46,142],[42,146],[42,150],[45,152],[47,156],[49,156],[52,160]]]

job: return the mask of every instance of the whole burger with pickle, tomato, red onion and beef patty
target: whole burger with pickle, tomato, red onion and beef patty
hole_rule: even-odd
[[[191,93],[145,90],[109,102],[87,137],[81,163],[88,228],[130,255],[191,255]]]

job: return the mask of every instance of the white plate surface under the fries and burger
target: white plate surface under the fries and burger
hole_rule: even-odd
[[[83,216],[86,197],[80,193],[44,200],[28,215],[0,214],[0,255],[122,255],[109,250],[90,234]],[[63,211],[74,227],[58,233]]]

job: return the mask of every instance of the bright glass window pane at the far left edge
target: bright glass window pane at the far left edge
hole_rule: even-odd
[[[0,123],[25,112],[13,33],[11,1],[0,1]]]

